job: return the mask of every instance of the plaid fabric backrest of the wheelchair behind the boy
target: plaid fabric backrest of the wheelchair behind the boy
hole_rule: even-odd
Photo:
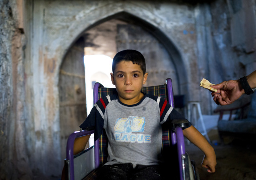
[[[143,87],[142,92],[147,94],[160,96],[165,99],[167,95],[167,86],[159,85],[159,86],[149,86]],[[103,86],[98,89],[98,99],[101,97],[105,97],[107,95],[112,95],[113,93],[117,93],[115,88],[104,88]],[[170,138],[169,138],[169,131],[168,129],[163,129],[163,137],[162,137],[162,146],[169,146],[170,145]],[[107,137],[105,130],[103,134],[99,138],[99,148],[100,148],[100,163],[104,164],[107,161]]]

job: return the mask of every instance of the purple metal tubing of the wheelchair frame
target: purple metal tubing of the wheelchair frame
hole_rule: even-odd
[[[171,106],[174,107],[173,102],[173,92],[172,92],[172,80],[170,78],[166,79],[167,84],[167,94],[168,94],[168,102]],[[98,88],[100,86],[100,83],[95,83],[93,88],[93,103],[95,104],[98,101]],[[74,148],[74,142],[77,137],[93,134],[94,130],[82,130],[82,131],[76,131],[72,133],[68,138],[67,143],[67,160],[70,161],[70,179],[74,180],[74,155],[73,155],[73,148]],[[177,151],[178,151],[178,162],[179,162],[179,176],[180,180],[184,180],[183,177],[183,171],[184,166],[182,165],[182,155],[185,154],[185,144],[184,144],[184,137],[183,132],[180,127],[176,127],[175,131],[171,130],[171,142],[172,145],[177,144]],[[94,143],[94,156],[95,156],[95,169],[99,167],[100,165],[100,152],[99,152],[99,139],[97,139]]]

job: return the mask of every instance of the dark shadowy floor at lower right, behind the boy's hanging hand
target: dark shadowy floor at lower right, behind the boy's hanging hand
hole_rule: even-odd
[[[204,153],[194,144],[185,145],[190,159],[196,161],[200,179],[256,179],[256,146],[250,144],[213,145],[216,153],[216,172],[209,173],[201,166]]]

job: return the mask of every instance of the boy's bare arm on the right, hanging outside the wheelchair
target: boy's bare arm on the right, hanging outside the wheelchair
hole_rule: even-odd
[[[215,172],[215,166],[217,164],[216,155],[213,147],[205,137],[192,125],[184,129],[183,134],[190,142],[195,144],[205,153],[202,166],[207,168],[208,172]]]

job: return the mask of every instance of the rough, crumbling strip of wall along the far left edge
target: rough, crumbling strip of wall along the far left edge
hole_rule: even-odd
[[[30,179],[25,100],[26,39],[19,17],[20,2],[1,1],[0,15],[0,178]],[[32,143],[31,143],[32,144]]]

